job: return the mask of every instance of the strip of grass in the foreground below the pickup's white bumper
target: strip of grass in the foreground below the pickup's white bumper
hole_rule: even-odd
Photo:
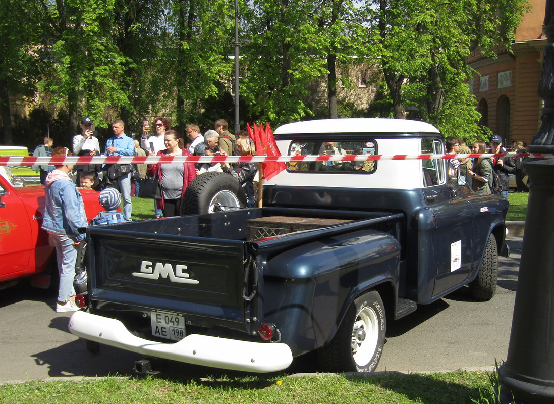
[[[0,402],[22,404],[485,404],[495,403],[496,373],[244,376],[168,380],[108,377],[88,381],[31,381],[0,386]]]

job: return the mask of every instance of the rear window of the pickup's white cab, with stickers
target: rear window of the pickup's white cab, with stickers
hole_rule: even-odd
[[[289,146],[289,156],[313,155],[376,155],[377,142],[367,141],[316,141],[293,142]],[[377,161],[289,161],[289,172],[325,172],[371,174],[377,170]]]

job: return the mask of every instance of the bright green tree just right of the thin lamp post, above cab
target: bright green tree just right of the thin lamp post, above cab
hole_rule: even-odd
[[[253,119],[278,125],[312,115],[307,89],[328,73],[320,12],[301,0],[256,0],[244,9],[240,94]]]

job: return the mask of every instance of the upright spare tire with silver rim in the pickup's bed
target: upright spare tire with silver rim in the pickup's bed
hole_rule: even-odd
[[[225,172],[205,172],[189,183],[181,201],[181,214],[233,211],[246,207],[240,183]]]

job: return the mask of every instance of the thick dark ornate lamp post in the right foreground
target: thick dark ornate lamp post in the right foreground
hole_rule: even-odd
[[[545,101],[541,128],[530,153],[554,152],[554,9],[546,0],[538,94]],[[523,163],[530,178],[529,203],[517,279],[507,359],[499,369],[500,401],[554,402],[554,160]]]

